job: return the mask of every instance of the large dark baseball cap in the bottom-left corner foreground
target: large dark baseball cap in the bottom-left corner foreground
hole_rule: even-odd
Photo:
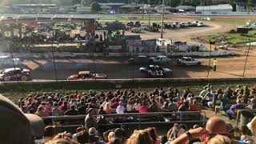
[[[44,132],[42,118],[35,114],[24,114],[14,102],[0,94],[0,143],[34,143]]]

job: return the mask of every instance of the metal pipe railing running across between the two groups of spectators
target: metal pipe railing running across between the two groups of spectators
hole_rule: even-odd
[[[97,117],[99,115],[95,115]],[[118,123],[106,123],[99,124],[99,126],[113,126],[113,125],[133,125],[138,126],[140,129],[142,125],[145,124],[167,124],[167,123],[201,123],[203,126],[206,123],[206,112],[153,112],[153,113],[127,113],[127,114],[103,114],[104,118],[134,118],[136,122],[118,122]],[[168,117],[174,116],[175,119],[171,120]],[[194,118],[193,116],[199,116]],[[166,118],[165,121],[147,121],[147,118]],[[50,116],[50,117],[42,117],[43,120],[51,120],[52,122],[66,122],[66,121],[74,121],[78,120],[78,126],[83,125],[86,115],[75,115],[75,116]],[[107,121],[107,120],[106,120]],[[80,122],[80,123],[79,123]],[[63,126],[63,125],[62,125]],[[60,126],[61,127],[61,126]]]

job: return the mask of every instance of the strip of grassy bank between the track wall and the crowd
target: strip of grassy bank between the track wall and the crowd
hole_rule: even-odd
[[[134,90],[139,90],[141,92],[153,91],[156,87],[163,87],[167,89],[178,88],[182,92],[182,90],[186,90],[186,88],[190,88],[194,92],[194,94],[198,94],[199,91],[202,90],[203,86],[206,86],[208,82],[124,82],[122,85],[117,85],[114,83],[107,82],[51,82],[46,84],[26,84],[26,83],[18,83],[16,85],[0,85],[1,94],[5,95],[7,98],[12,100],[17,100],[20,97],[24,97],[26,94],[30,92],[58,92],[58,93],[70,93],[74,92],[74,90],[78,90],[81,92],[88,92],[88,90],[117,90],[117,89],[129,89],[132,88]],[[248,85],[252,86],[254,81],[252,80],[244,80],[244,81],[227,81],[227,82],[210,82],[214,89],[223,89],[225,90],[227,86],[235,87],[236,85]]]

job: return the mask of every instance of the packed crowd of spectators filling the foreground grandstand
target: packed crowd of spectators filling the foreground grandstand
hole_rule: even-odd
[[[147,113],[147,112],[177,112],[201,111],[209,109],[234,118],[238,110],[256,108],[256,86],[237,86],[232,90],[214,89],[208,84],[195,95],[189,88],[178,90],[155,89],[152,93],[136,92],[134,90],[106,90],[97,93],[88,92],[67,94],[30,93],[26,98],[20,98],[16,104],[25,114],[36,114],[45,118],[62,115],[86,115],[85,124],[78,127],[75,134],[61,133],[50,137],[47,143],[109,143],[109,144],[168,144],[168,143],[256,143],[256,117],[244,126],[234,127],[222,119],[208,119],[205,127],[194,125],[188,127],[175,123],[166,135],[158,135],[158,130],[149,127],[146,130],[134,130],[130,138],[126,138],[122,128],[109,128],[103,132],[99,124],[106,122],[105,114]],[[99,116],[100,115],[100,116]],[[99,117],[98,117],[99,116]],[[126,122],[120,118],[119,122]]]

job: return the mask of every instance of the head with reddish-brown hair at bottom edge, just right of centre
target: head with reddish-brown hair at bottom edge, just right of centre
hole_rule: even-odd
[[[127,144],[154,144],[154,142],[148,131],[137,130],[130,136]]]

